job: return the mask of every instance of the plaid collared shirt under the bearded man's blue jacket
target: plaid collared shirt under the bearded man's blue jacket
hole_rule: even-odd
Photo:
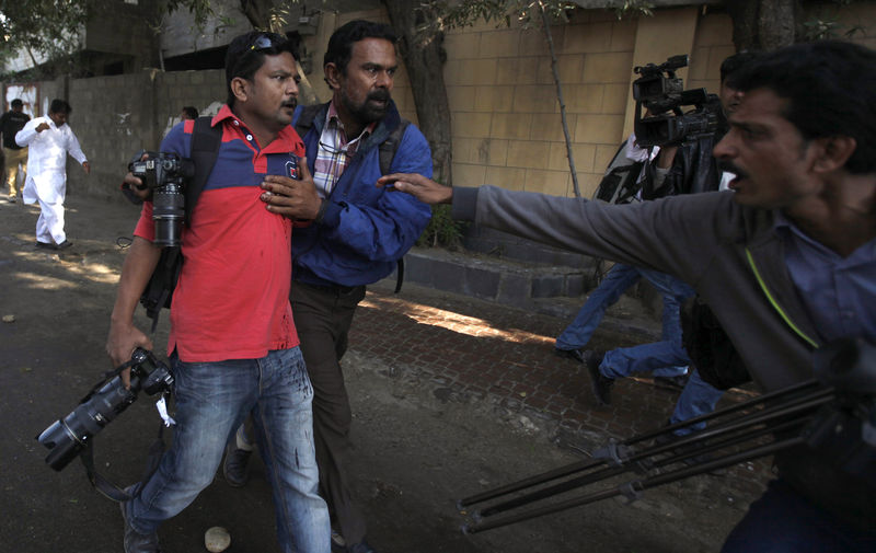
[[[313,183],[320,197],[325,198],[332,194],[337,180],[344,174],[353,154],[359,145],[374,130],[377,122],[371,123],[354,140],[347,141],[344,124],[335,110],[335,103],[328,104],[325,114],[325,126],[320,135],[320,148],[313,163]]]

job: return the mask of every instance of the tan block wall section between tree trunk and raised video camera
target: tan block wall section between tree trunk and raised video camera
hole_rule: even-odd
[[[622,136],[636,21],[576,12],[551,27],[585,195]],[[550,49],[539,28],[456,30],[445,41],[454,182],[573,195]]]

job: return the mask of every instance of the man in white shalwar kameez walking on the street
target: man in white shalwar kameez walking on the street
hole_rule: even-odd
[[[30,147],[27,180],[22,197],[25,204],[39,201],[36,246],[61,250],[72,245],[64,232],[64,199],[67,195],[67,153],[85,174],[91,172],[79,140],[67,125],[71,108],[64,100],[53,100],[48,116],[36,117],[15,135],[19,146]]]

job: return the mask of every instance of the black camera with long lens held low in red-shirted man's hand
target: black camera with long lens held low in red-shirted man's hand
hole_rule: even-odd
[[[49,449],[46,464],[56,471],[64,470],[104,426],[137,400],[140,390],[154,395],[169,391],[173,384],[168,366],[147,349],[135,349],[126,365],[130,366],[130,389],[116,376],[100,389],[95,387],[72,413],[53,423],[36,438]]]

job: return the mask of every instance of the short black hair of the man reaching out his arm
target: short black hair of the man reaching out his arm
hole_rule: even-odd
[[[842,41],[797,44],[763,54],[733,77],[734,88],[768,89],[806,140],[854,138],[845,169],[876,172],[876,51]]]

